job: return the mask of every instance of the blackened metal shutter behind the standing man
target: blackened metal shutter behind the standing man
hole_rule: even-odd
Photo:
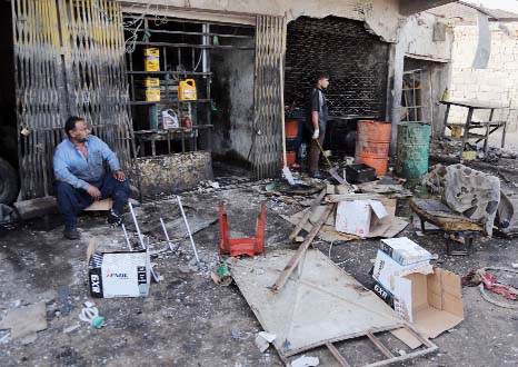
[[[301,17],[288,24],[286,102],[306,107],[318,71],[330,73],[329,113],[385,117],[388,43],[362,22]]]

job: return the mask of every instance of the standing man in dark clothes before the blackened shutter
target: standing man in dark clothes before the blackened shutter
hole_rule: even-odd
[[[311,133],[311,142],[309,145],[309,176],[313,178],[322,178],[318,170],[318,160],[320,159],[320,147],[323,145],[326,137],[326,125],[328,119],[327,100],[323,96],[323,89],[329,86],[329,76],[319,73],[315,81],[315,87],[309,98],[310,115],[307,119],[307,127]],[[320,142],[320,147],[318,146]]]

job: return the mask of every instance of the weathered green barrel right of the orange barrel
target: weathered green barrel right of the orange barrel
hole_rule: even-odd
[[[428,172],[431,127],[424,122],[398,125],[398,160],[396,172],[408,179],[421,178]]]

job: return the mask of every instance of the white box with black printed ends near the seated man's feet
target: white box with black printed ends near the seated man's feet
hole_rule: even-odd
[[[147,297],[149,294],[151,267],[147,250],[92,252],[88,267],[92,297]]]

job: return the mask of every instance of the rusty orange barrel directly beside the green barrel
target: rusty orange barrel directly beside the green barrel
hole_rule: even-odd
[[[356,138],[356,162],[366,163],[376,169],[376,175],[387,173],[390,148],[390,122],[358,121]]]

